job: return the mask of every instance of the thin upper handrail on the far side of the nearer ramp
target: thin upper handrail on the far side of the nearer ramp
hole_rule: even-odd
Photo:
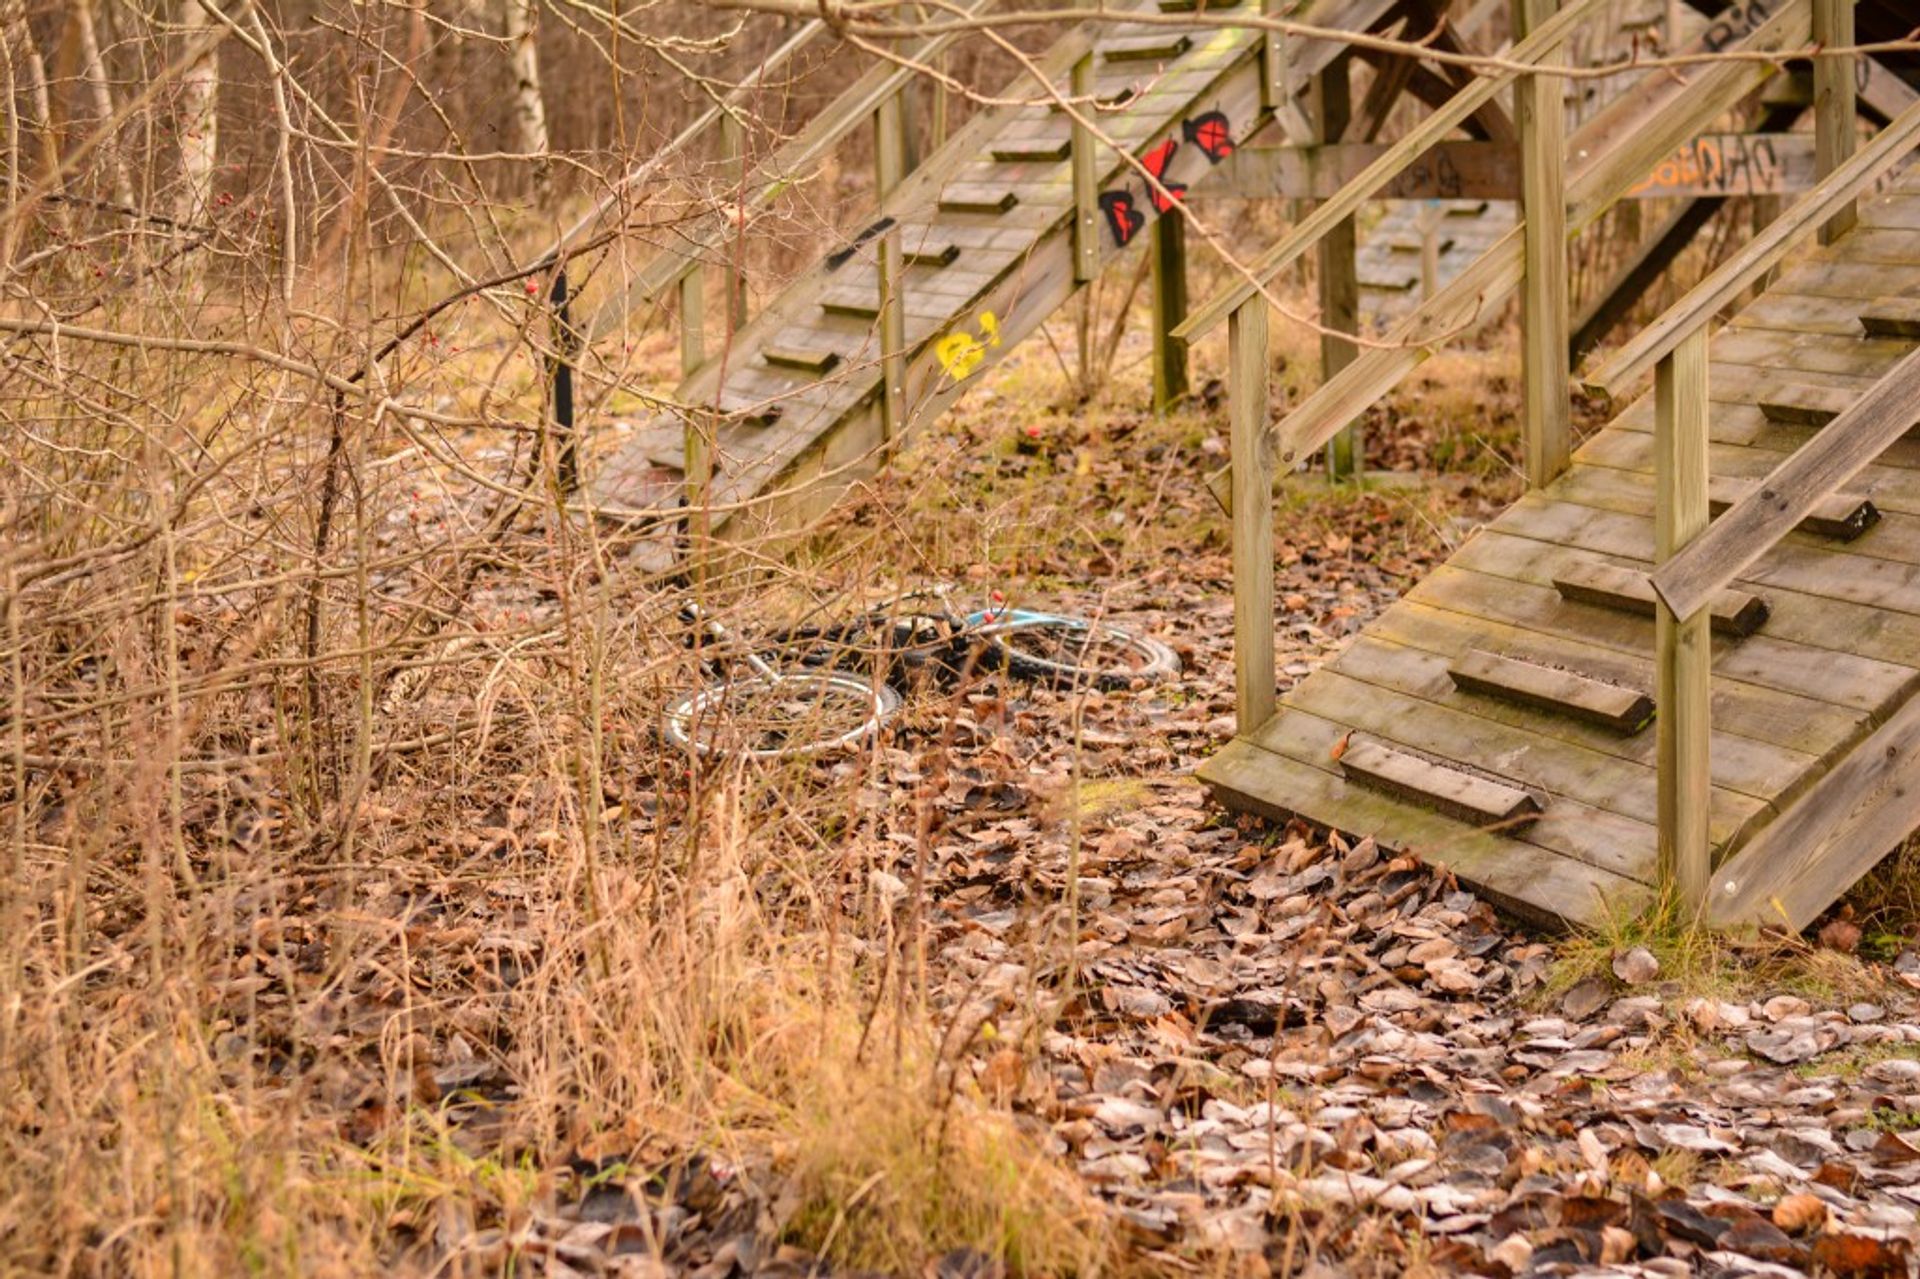
[[[1551,19],[1542,23],[1538,31],[1515,44],[1507,52],[1507,61],[1540,63],[1542,60],[1553,56],[1572,29],[1592,17],[1603,4],[1609,4],[1609,0],[1574,0]],[[1521,75],[1523,71],[1519,69],[1507,69],[1500,75],[1482,77],[1448,98],[1446,106],[1434,109],[1434,113],[1415,125],[1407,136],[1400,138],[1400,142],[1386,148],[1379,159],[1361,169],[1346,186],[1340,188],[1338,194],[1319,204],[1292,230],[1281,236],[1273,248],[1260,255],[1260,261],[1248,267],[1244,277],[1213,294],[1200,309],[1187,317],[1187,321],[1173,330],[1173,336],[1183,342],[1194,342],[1206,336],[1242,302],[1263,288],[1267,280],[1277,277],[1304,252],[1313,248],[1313,244],[1319,242],[1321,236],[1325,236],[1332,227],[1344,223],[1359,209],[1359,205],[1384,190],[1386,184],[1400,177],[1407,165],[1419,159],[1427,148],[1446,138],[1455,125],[1480,109]]]

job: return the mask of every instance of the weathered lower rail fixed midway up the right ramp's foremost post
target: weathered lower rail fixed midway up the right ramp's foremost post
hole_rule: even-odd
[[[1793,530],[1820,499],[1860,474],[1920,422],[1920,351],[1893,367],[1859,401],[1820,428],[1726,509],[1707,532],[1653,572],[1653,590],[1692,616]]]

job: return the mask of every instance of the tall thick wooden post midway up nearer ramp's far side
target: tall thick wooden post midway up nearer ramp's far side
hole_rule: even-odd
[[[1553,17],[1559,0],[1513,0],[1515,38]],[[1561,61],[1563,52],[1551,60]],[[1526,484],[1557,478],[1571,455],[1572,365],[1567,315],[1567,81],[1524,75],[1513,86],[1521,134],[1521,217],[1526,280],[1521,288],[1523,438]]]

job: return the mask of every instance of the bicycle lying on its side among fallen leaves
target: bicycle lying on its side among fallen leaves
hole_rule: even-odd
[[[995,605],[956,613],[948,588],[897,595],[833,626],[801,626],[749,645],[687,605],[716,641],[707,688],[664,711],[662,734],[697,755],[787,759],[872,741],[900,689],[952,686],[970,672],[1068,688],[1131,688],[1179,672],[1167,645],[1119,626]],[[745,670],[741,670],[745,666]]]

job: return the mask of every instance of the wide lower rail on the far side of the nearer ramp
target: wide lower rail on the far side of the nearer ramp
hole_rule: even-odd
[[[1809,0],[1791,0],[1728,52],[1782,52],[1801,44],[1809,31]],[[1684,109],[1651,111],[1655,115],[1651,123],[1638,125],[1624,142],[1603,148],[1601,142],[1624,127],[1620,117],[1636,109],[1632,94],[1638,90],[1609,102],[1567,144],[1574,156],[1592,154],[1586,167],[1569,182],[1567,234],[1586,230],[1634,181],[1672,154],[1672,148],[1774,71],[1776,67],[1766,61],[1734,60],[1711,63],[1692,81],[1649,79],[1649,92],[1668,94],[1672,98],[1668,106]],[[1281,421],[1277,426],[1281,465],[1292,465],[1323,446],[1432,355],[1434,334],[1453,332],[1476,317],[1486,317],[1496,300],[1519,288],[1523,277],[1524,229],[1515,227],[1430,302],[1394,325],[1388,332],[1392,346],[1363,353]]]

